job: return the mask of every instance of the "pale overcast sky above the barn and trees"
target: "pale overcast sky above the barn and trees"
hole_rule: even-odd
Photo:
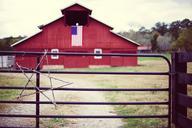
[[[114,31],[151,28],[158,21],[192,20],[192,0],[0,0],[0,38],[30,35],[78,2]]]

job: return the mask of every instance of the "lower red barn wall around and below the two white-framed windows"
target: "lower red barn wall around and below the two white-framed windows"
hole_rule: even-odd
[[[120,50],[120,49],[118,49]],[[50,51],[50,50],[49,50]],[[63,52],[84,52],[72,51],[71,49],[63,49]],[[94,49],[87,49],[86,52],[93,52]],[[62,52],[62,51],[61,51]],[[103,50],[105,53],[122,53],[120,51]],[[124,52],[125,53],[125,52]],[[134,52],[132,52],[134,53]],[[111,66],[135,66],[137,65],[137,57],[114,57],[103,56],[102,59],[95,59],[94,56],[59,56],[59,59],[51,59],[51,56],[47,56],[48,65],[63,65],[65,68],[86,68],[89,65],[111,65]],[[47,65],[47,58],[44,57],[42,65]],[[18,56],[16,57],[16,63],[19,65],[34,68],[36,65],[36,57],[33,56]]]

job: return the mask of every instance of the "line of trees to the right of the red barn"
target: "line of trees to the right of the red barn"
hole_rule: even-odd
[[[157,22],[151,29],[119,32],[141,45],[151,45],[152,51],[192,51],[192,21],[183,19],[171,23]]]

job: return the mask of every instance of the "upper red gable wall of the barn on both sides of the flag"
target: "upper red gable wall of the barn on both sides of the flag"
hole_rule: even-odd
[[[64,18],[57,20],[43,28],[43,31],[33,38],[19,44],[16,47],[26,48],[122,48],[136,50],[137,46],[129,43],[110,32],[106,27],[93,19],[89,26],[83,27],[83,46],[71,46],[71,27],[64,25]]]

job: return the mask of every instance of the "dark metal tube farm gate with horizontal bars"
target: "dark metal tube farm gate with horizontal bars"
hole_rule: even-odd
[[[17,55],[17,56],[23,56],[24,55],[30,55],[30,56],[36,56],[36,68],[32,70],[27,70],[25,68],[22,68],[22,70],[18,69],[11,69],[11,70],[1,70],[1,73],[35,73],[36,75],[36,87],[23,87],[23,86],[0,86],[0,90],[6,90],[6,89],[15,89],[15,90],[35,90],[36,93],[36,100],[35,101],[18,101],[18,100],[1,100],[0,104],[33,104],[36,106],[36,114],[35,115],[28,115],[28,114],[6,114],[6,113],[0,113],[1,118],[35,118],[36,119],[36,124],[34,127],[39,128],[40,127],[40,119],[41,118],[165,118],[167,119],[167,128],[171,128],[171,122],[172,122],[172,114],[171,114],[171,107],[177,106],[175,102],[172,103],[172,97],[171,97],[171,82],[174,83],[174,75],[175,72],[172,72],[172,67],[171,63],[168,58],[166,58],[163,55],[158,55],[158,54],[118,54],[118,53],[113,53],[113,54],[93,54],[93,53],[50,53],[47,52],[46,55],[60,55],[60,56],[121,56],[121,57],[155,57],[155,58],[162,58],[168,65],[168,71],[166,72],[92,72],[92,71],[65,71],[65,70],[41,70],[40,69],[40,63],[41,63],[41,57],[45,55],[45,52],[19,52],[19,51],[13,51],[13,52],[0,52],[0,56],[3,55]],[[50,87],[41,87],[40,85],[40,73],[47,74],[98,74],[98,75],[158,75],[158,76],[168,76],[168,87],[167,88],[69,88],[69,87],[62,87],[62,88],[50,88]],[[171,79],[172,78],[172,79]],[[175,77],[174,77],[175,78]],[[172,81],[171,81],[172,80]],[[30,79],[29,81],[30,82]],[[168,92],[167,97],[168,100],[164,102],[156,102],[156,101],[151,101],[151,102],[64,102],[64,101],[55,101],[56,104],[65,104],[65,105],[166,105],[168,107],[167,114],[165,115],[41,115],[40,114],[40,105],[41,104],[52,104],[50,101],[40,101],[40,92],[43,90],[60,90],[60,91],[122,91],[122,92],[131,92],[131,91],[136,91],[136,92]],[[175,96],[175,95],[174,95]],[[179,96],[181,97],[181,96]],[[175,100],[173,100],[175,101]],[[192,101],[190,99],[190,101]],[[190,102],[191,103],[191,102]],[[174,105],[171,105],[174,104]],[[191,104],[190,104],[191,107]],[[172,110],[174,114],[176,114],[177,110]],[[182,110],[181,110],[182,111]],[[185,115],[186,111],[184,110]],[[177,115],[177,114],[176,114]],[[179,116],[180,117],[180,116]],[[175,118],[174,118],[175,119]],[[177,119],[175,119],[175,122]],[[185,119],[180,119],[180,120],[185,120]],[[178,124],[178,123],[176,123]],[[189,128],[192,123],[190,120],[188,121],[188,124],[181,127],[181,128]],[[3,126],[0,126],[3,127]],[[3,127],[4,128],[4,127]],[[179,128],[179,127],[178,127]]]

